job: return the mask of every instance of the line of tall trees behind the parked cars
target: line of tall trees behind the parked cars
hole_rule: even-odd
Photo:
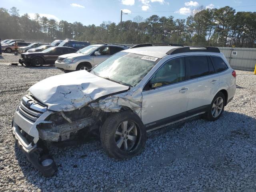
[[[177,43],[195,46],[256,47],[256,12],[236,12],[234,8],[204,8],[200,6],[186,19],[152,15],[146,19],[136,16],[122,22],[102,22],[84,26],[40,17],[20,16],[19,10],[0,8],[0,37],[22,38],[50,42],[54,39],[139,44],[149,42]]]

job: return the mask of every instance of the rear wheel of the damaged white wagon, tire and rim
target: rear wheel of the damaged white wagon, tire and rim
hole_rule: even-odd
[[[206,119],[209,121],[215,121],[222,115],[225,107],[225,96],[222,92],[218,92],[213,98],[212,103],[206,112]]]

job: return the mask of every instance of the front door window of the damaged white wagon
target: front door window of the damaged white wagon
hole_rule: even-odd
[[[166,62],[150,80],[152,88],[169,85],[185,80],[184,58],[176,58]]]

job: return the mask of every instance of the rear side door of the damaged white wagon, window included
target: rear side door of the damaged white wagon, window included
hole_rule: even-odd
[[[214,74],[212,63],[209,61],[208,56],[185,57],[190,82],[187,110],[192,113],[205,111],[218,90],[219,76]]]

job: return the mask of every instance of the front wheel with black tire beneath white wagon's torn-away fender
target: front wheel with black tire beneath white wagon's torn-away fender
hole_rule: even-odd
[[[116,159],[131,158],[140,154],[145,148],[146,139],[146,129],[140,118],[128,111],[109,116],[100,130],[104,151]]]

